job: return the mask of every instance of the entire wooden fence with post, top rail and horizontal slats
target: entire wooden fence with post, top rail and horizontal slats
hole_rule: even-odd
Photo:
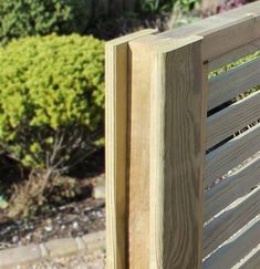
[[[222,257],[225,268],[239,261],[238,245],[226,242],[233,234],[245,229],[241,255],[258,241],[259,218],[247,224],[260,214],[259,187],[249,194],[260,184],[259,156],[205,186],[260,152],[260,124],[218,146],[260,118],[259,92],[207,112],[260,84],[260,58],[210,80],[208,72],[260,50],[260,1],[154,33],[106,44],[106,267],[215,268]]]

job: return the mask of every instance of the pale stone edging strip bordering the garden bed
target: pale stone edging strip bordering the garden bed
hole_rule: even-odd
[[[76,238],[54,239],[40,245],[29,245],[0,250],[0,268],[31,263],[45,258],[63,257],[82,250],[94,252],[105,250],[105,231],[97,231]]]

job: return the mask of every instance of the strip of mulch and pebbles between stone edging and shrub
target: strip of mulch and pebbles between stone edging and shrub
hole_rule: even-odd
[[[95,178],[86,179],[86,182]],[[105,201],[86,197],[27,219],[8,220],[0,214],[0,249],[77,237],[105,229]]]

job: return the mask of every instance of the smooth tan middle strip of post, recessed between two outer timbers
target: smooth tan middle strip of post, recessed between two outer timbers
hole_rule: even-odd
[[[131,50],[128,267],[149,268],[150,50],[138,40]]]

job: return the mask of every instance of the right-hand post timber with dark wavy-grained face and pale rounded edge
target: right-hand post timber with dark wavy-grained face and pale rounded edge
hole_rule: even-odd
[[[153,55],[150,107],[150,267],[198,269],[207,71],[201,39]],[[146,267],[148,268],[148,267]]]

